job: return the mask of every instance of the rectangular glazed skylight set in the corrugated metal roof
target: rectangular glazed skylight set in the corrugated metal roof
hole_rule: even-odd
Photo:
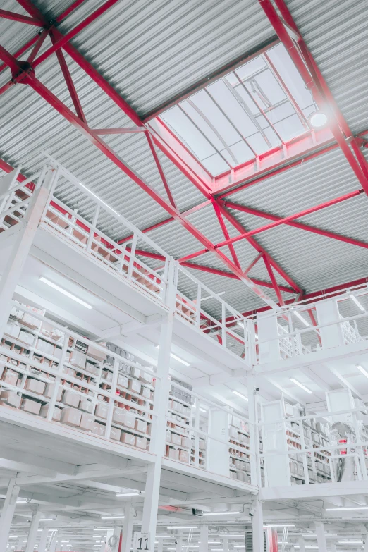
[[[282,44],[183,99],[160,118],[211,176],[309,131],[317,109]]]

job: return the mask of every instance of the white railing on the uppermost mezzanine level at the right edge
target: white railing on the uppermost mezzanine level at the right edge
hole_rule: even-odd
[[[328,320],[319,312],[324,301],[333,303],[334,314],[329,313]],[[256,339],[254,357],[257,364],[272,362],[292,357],[309,355],[311,352],[324,348],[335,348],[352,343],[360,343],[368,338],[368,287],[367,284],[356,286],[341,292],[326,296],[315,302],[300,302],[272,310],[262,314],[255,321]],[[271,322],[266,334],[261,330],[264,321]],[[273,321],[272,321],[273,320]],[[258,333],[261,337],[258,336]],[[266,360],[262,358],[262,348],[267,350]],[[272,349],[272,357],[269,350]]]

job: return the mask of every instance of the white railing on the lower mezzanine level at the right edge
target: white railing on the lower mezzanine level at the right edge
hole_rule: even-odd
[[[300,417],[286,417],[272,422],[259,422],[262,440],[270,434],[283,433],[284,443],[274,451],[260,453],[264,460],[264,486],[277,486],[269,481],[267,460],[283,457],[289,484],[318,484],[368,479],[368,427],[364,407],[338,412],[318,412]],[[333,427],[336,421],[348,423],[350,431],[343,436]]]

